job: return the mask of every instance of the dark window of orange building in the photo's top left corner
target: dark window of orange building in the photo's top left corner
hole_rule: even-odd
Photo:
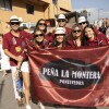
[[[12,10],[11,0],[0,0],[0,9]]]

